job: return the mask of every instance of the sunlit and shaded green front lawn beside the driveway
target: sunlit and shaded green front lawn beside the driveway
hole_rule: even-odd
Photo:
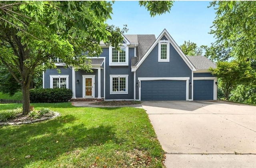
[[[46,107],[61,116],[1,126],[0,167],[163,167],[164,151],[143,109],[32,105],[35,110]],[[20,106],[0,105],[0,109]]]

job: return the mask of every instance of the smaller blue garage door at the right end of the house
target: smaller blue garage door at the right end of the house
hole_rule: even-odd
[[[194,80],[194,100],[213,100],[213,80]]]

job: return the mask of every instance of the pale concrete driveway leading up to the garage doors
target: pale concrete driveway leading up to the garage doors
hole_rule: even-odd
[[[222,101],[143,101],[167,168],[256,168],[256,107]]]

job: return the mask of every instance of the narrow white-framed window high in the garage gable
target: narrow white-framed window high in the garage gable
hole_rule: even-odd
[[[170,61],[170,43],[160,42],[158,43],[158,62]]]

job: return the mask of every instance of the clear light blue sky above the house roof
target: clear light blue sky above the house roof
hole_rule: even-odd
[[[198,47],[209,46],[215,41],[208,34],[215,18],[215,10],[207,8],[209,4],[210,1],[175,1],[170,13],[151,18],[138,1],[115,1],[112,20],[107,23],[120,28],[127,24],[126,34],[154,34],[156,38],[165,28],[178,45],[190,40]]]

